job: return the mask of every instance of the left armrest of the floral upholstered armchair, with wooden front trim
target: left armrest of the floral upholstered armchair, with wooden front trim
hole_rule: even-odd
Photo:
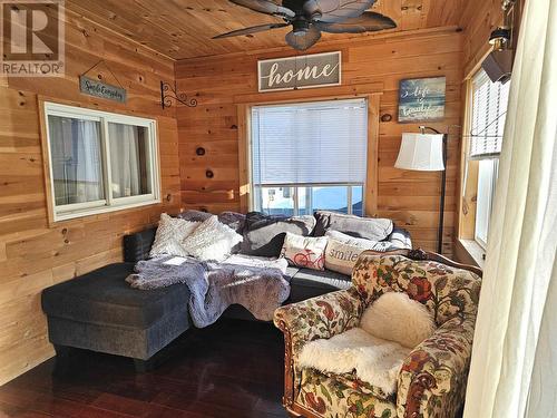
[[[301,383],[297,357],[304,344],[319,338],[331,338],[356,327],[364,302],[355,288],[328,293],[319,298],[278,308],[275,325],[284,333],[284,397],[291,409]]]

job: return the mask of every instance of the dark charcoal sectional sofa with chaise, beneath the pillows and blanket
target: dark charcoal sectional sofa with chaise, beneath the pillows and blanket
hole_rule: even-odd
[[[204,221],[211,214],[187,211],[178,216]],[[277,256],[285,232],[320,236],[334,230],[361,239],[380,234],[392,249],[411,247],[408,232],[394,227],[388,220],[331,212],[296,218],[225,212],[218,217],[244,236],[244,242],[234,251],[254,256]],[[155,234],[156,229],[148,229],[125,236],[124,262],[106,265],[43,291],[42,309],[57,354],[62,356],[68,348],[88,349],[130,357],[139,369],[144,369],[145,361],[192,327],[187,305],[189,291],[185,284],[139,291],[125,281],[135,263],[149,256]],[[286,275],[291,284],[286,303],[348,289],[351,284],[349,275],[326,270],[291,266]],[[231,307],[224,315],[254,319],[240,305]]]

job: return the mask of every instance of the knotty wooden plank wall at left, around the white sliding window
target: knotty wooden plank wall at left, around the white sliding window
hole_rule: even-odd
[[[53,354],[40,292],[46,286],[121,260],[121,237],[179,208],[178,142],[174,109],[159,105],[160,79],[174,62],[71,12],[66,25],[66,77],[0,82],[0,385]],[[78,75],[105,59],[128,90],[128,104],[79,94]],[[116,84],[106,67],[100,76]],[[77,105],[155,117],[164,203],[49,227],[39,138],[38,95]],[[167,198],[167,200],[166,200]]]

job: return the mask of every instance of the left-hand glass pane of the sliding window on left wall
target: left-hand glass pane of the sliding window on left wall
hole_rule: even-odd
[[[56,205],[105,200],[100,123],[49,116],[48,128]]]

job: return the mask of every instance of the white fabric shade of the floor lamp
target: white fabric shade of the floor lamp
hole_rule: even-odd
[[[443,136],[402,134],[402,144],[394,167],[419,172],[442,172],[444,169]]]

